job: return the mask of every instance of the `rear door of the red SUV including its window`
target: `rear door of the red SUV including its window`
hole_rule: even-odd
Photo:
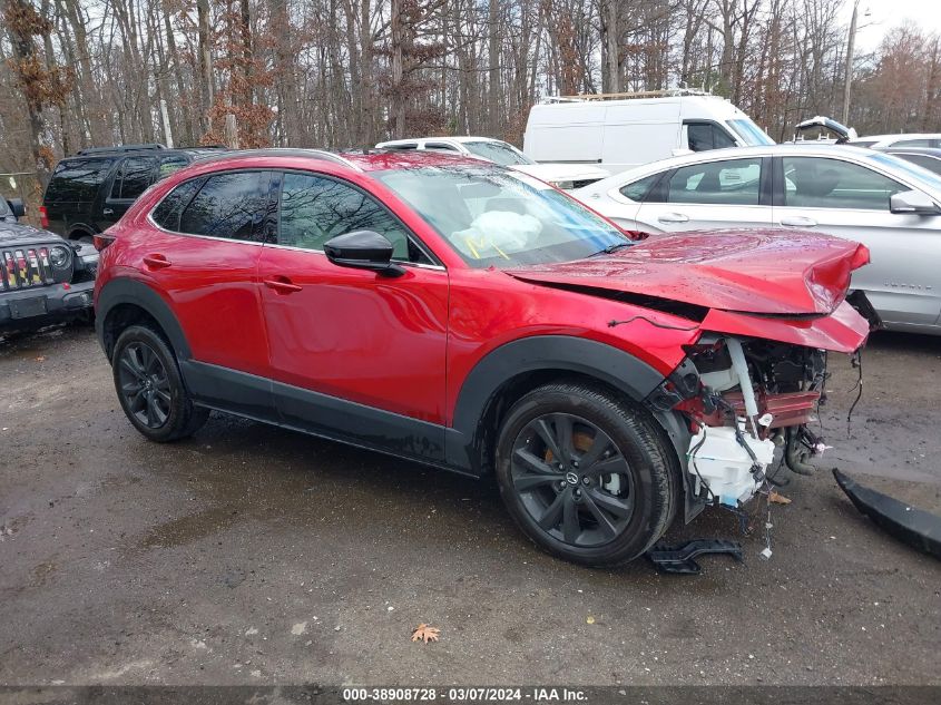
[[[236,373],[254,375],[262,386],[268,373],[256,268],[264,224],[272,218],[269,183],[271,172],[257,169],[182,183],[151,212],[156,227],[138,253],[138,270],[173,302],[203,376],[226,381],[199,395],[229,408],[231,396],[252,384]],[[265,408],[273,413],[269,396],[264,403],[244,398],[244,413],[271,415]]]

